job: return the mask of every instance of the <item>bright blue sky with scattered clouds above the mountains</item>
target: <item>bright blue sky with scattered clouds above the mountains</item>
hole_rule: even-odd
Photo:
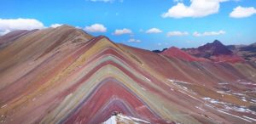
[[[256,42],[255,0],[206,1],[2,0],[0,19],[6,21],[1,23],[0,20],[0,31],[1,27],[2,31],[5,30],[4,24],[8,20],[22,18],[38,20],[44,27],[67,24],[85,30],[86,26],[103,25],[105,31],[90,34],[105,35],[113,42],[150,50],[172,46],[194,48],[215,39],[224,44]],[[203,8],[200,4],[203,4]],[[178,8],[175,8],[177,5]],[[168,11],[171,8],[172,11]],[[231,15],[235,8],[236,12]],[[124,28],[128,30],[126,34],[113,34],[115,30],[122,32]],[[157,28],[160,32],[146,33],[151,28]]]

